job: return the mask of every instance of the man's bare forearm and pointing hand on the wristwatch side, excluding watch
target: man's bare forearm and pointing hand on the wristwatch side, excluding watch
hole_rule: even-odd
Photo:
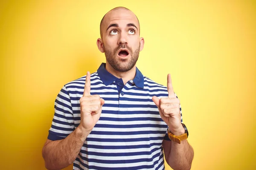
[[[166,125],[168,125],[172,134],[179,136],[185,133],[183,126],[180,123],[180,100],[173,91],[172,79],[167,76],[168,97],[158,99],[152,97],[153,102],[157,105],[159,114]],[[174,170],[190,170],[194,151],[187,140],[181,141],[180,144],[163,140],[163,150],[167,164]]]

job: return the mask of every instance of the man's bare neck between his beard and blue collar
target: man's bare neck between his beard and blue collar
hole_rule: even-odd
[[[133,68],[131,68],[131,70],[126,71],[126,72],[120,72],[120,71],[116,71],[115,69],[113,69],[113,67],[111,67],[111,65],[108,63],[108,61],[106,61],[106,70],[111,73],[113,76],[117,77],[117,78],[122,78],[122,81],[124,82],[124,85],[129,81],[129,80],[133,80],[136,74],[136,65],[134,65]]]

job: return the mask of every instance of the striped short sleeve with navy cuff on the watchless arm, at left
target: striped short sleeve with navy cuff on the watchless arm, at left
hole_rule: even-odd
[[[75,130],[70,95],[65,86],[55,99],[54,110],[52,125],[47,137],[53,141],[66,138]]]

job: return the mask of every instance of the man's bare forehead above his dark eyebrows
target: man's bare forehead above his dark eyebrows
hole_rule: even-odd
[[[128,23],[134,23],[135,26],[139,27],[139,22],[135,14],[126,9],[116,9],[109,11],[105,15],[105,20],[103,22],[104,28],[106,29],[110,24],[113,23],[119,24],[119,26],[122,26],[122,24],[126,25]]]

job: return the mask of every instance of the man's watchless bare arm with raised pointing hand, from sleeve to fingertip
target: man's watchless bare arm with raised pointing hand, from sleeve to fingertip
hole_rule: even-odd
[[[59,170],[72,164],[78,156],[85,139],[99,120],[102,105],[105,101],[99,95],[90,95],[90,72],[87,72],[84,94],[79,102],[81,110],[79,126],[65,139],[56,141],[47,139],[44,144],[42,155],[45,167],[49,170]],[[61,114],[60,111],[58,113]],[[65,117],[64,115],[63,113],[62,116]]]

